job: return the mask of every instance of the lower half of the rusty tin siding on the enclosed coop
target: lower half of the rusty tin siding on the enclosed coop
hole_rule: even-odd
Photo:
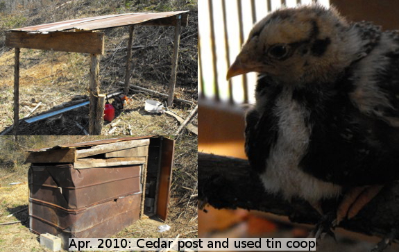
[[[139,219],[141,194],[119,197],[90,208],[68,210],[30,199],[31,231],[68,238],[110,237]]]

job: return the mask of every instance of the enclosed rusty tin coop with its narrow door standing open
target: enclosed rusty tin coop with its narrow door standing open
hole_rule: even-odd
[[[139,217],[167,218],[174,141],[124,137],[31,150],[29,228],[110,237]]]

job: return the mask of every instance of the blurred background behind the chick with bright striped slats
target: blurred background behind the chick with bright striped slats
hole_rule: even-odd
[[[389,0],[202,0],[198,1],[198,151],[246,158],[244,115],[255,102],[256,74],[226,81],[227,69],[253,24],[281,6],[318,2],[335,6],[351,21],[372,21],[384,30],[399,28],[399,1]],[[247,210],[198,212],[199,237],[307,237],[311,226],[293,226],[285,217]],[[318,251],[370,251],[380,239],[338,230]],[[387,251],[398,251],[398,246]]]

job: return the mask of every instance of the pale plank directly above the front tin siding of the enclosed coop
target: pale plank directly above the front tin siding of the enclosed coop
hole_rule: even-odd
[[[121,165],[143,165],[146,163],[146,158],[82,158],[76,160],[74,163],[75,169],[87,169],[96,167],[112,167]]]

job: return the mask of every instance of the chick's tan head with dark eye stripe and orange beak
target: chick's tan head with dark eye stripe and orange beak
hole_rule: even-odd
[[[333,8],[277,10],[255,24],[227,78],[258,72],[280,83],[328,81],[350,64],[357,50],[348,31]]]

